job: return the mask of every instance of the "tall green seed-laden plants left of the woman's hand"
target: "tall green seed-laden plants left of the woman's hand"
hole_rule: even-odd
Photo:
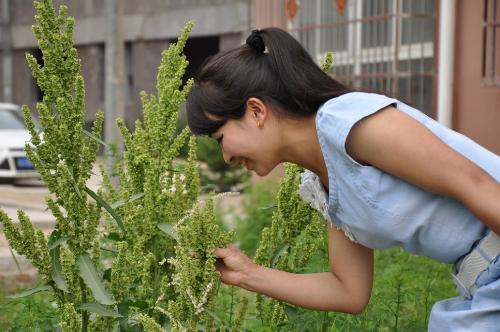
[[[212,203],[216,197],[204,209],[197,201],[194,137],[187,160],[175,164],[189,132],[184,128],[174,135],[179,106],[192,83],[180,88],[187,66],[182,50],[192,22],[162,54],[158,97],[141,93],[143,122],[137,121],[131,133],[117,120],[126,147],[124,164],[115,158],[111,169],[119,184],[111,184],[101,164],[104,187],[93,192],[86,181],[104,144],[99,134],[104,114],[96,114],[92,132],[83,129],[84,84],[73,48],[75,21],[66,18],[64,6],[56,16],[50,0],[34,4],[38,25],[33,32],[44,67],[29,54],[27,59],[44,97],[37,104],[39,131],[23,107],[36,147],[33,152],[27,145],[26,153],[55,194],[55,200],[46,201],[57,224],[46,239],[23,211],[18,211],[21,227],[0,211],[9,245],[32,259],[42,280],[42,286],[25,295],[51,292],[62,330],[68,332],[154,331],[162,326],[191,331],[197,324],[213,330],[214,317],[204,309],[214,306],[218,272],[213,254],[203,253],[227,245],[232,234],[218,234]],[[111,150],[112,156],[118,154]]]

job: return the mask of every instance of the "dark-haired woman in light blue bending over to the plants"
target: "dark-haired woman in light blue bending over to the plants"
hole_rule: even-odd
[[[227,163],[261,176],[282,162],[305,167],[299,194],[336,226],[329,273],[259,266],[230,246],[215,249],[223,282],[357,314],[372,291],[373,250],[401,246],[455,263],[461,296],[436,303],[430,331],[500,327],[500,157],[395,99],[334,80],[277,28],[204,64],[187,119]]]

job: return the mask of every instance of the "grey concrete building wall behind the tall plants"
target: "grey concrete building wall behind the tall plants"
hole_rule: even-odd
[[[215,52],[243,43],[251,30],[251,0],[120,1],[123,49],[126,44],[130,57],[130,72],[127,75],[125,71],[124,117],[131,129],[142,114],[139,92],[158,93],[156,76],[161,53],[177,39],[187,22],[194,20],[188,42],[217,37],[219,47]],[[53,0],[53,5],[56,14],[61,5],[67,6],[68,16],[76,20],[74,40],[85,81],[85,121],[91,122],[98,109],[106,113],[103,91],[106,0]],[[26,52],[32,53],[38,47],[31,31],[36,24],[33,0],[0,0],[0,12],[0,100],[26,104],[36,114],[36,86],[25,57]],[[12,69],[10,76],[5,74],[6,64]],[[196,65],[199,61],[192,66]],[[191,68],[190,73],[194,72],[195,68]]]

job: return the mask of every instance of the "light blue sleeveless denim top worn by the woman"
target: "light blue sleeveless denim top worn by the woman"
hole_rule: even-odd
[[[329,193],[325,193],[330,217],[337,227],[344,223],[354,240],[368,248],[403,247],[413,254],[453,263],[489,229],[461,202],[376,167],[360,165],[345,152],[345,139],[353,125],[391,104],[500,181],[500,157],[466,136],[395,99],[347,93],[323,104],[316,115],[330,182]]]

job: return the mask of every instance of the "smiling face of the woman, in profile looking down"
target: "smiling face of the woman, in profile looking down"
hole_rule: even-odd
[[[261,129],[263,123],[265,128]],[[273,126],[274,121],[269,116],[261,120],[247,109],[245,116],[227,121],[212,138],[218,141],[226,163],[237,163],[265,176],[282,162],[276,153],[278,141]]]

